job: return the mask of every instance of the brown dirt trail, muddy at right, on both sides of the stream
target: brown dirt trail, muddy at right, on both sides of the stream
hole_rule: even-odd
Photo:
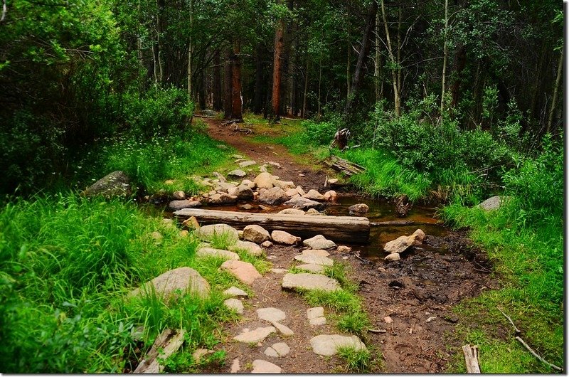
[[[230,144],[257,163],[278,162],[281,169],[274,174],[281,179],[319,189],[329,174],[312,162],[309,166],[298,164],[282,146],[248,141],[248,137],[235,131],[233,125],[222,126],[219,120],[207,120],[206,123],[211,137]],[[349,263],[351,278],[360,285],[358,294],[363,299],[372,328],[385,331],[369,332],[363,339],[383,363],[381,369],[375,366],[372,373],[445,372],[452,354],[457,354],[462,346],[452,336],[458,322],[452,307],[465,297],[477,296],[481,290],[497,285],[489,278],[490,266],[484,253],[474,248],[464,233],[452,232],[445,238],[427,235],[425,247],[425,250],[415,250],[390,264],[378,259],[362,260],[358,257],[357,246],[348,255],[331,255],[335,260]],[[433,253],[435,248],[444,249],[445,253]],[[287,269],[299,251],[299,248],[275,245],[267,250],[267,257],[273,267]],[[243,328],[268,326],[270,324],[263,324],[256,317],[255,309],[278,307],[287,313],[283,323],[294,331],[294,336],[272,334],[262,346],[255,347],[230,341],[223,344],[223,349],[228,351],[228,363],[239,358],[240,373],[250,371],[254,359],[276,363],[283,373],[341,372],[341,361],[315,355],[309,344],[311,336],[339,331],[329,324],[308,326],[307,304],[299,295],[283,292],[281,281],[282,275],[272,272],[257,280],[252,286],[255,297],[248,299],[243,320],[229,324],[226,330],[229,334],[238,334]],[[284,358],[270,360],[263,351],[277,341],[285,341],[291,352]],[[249,368],[244,369],[244,363]],[[220,372],[229,371],[230,365]]]

